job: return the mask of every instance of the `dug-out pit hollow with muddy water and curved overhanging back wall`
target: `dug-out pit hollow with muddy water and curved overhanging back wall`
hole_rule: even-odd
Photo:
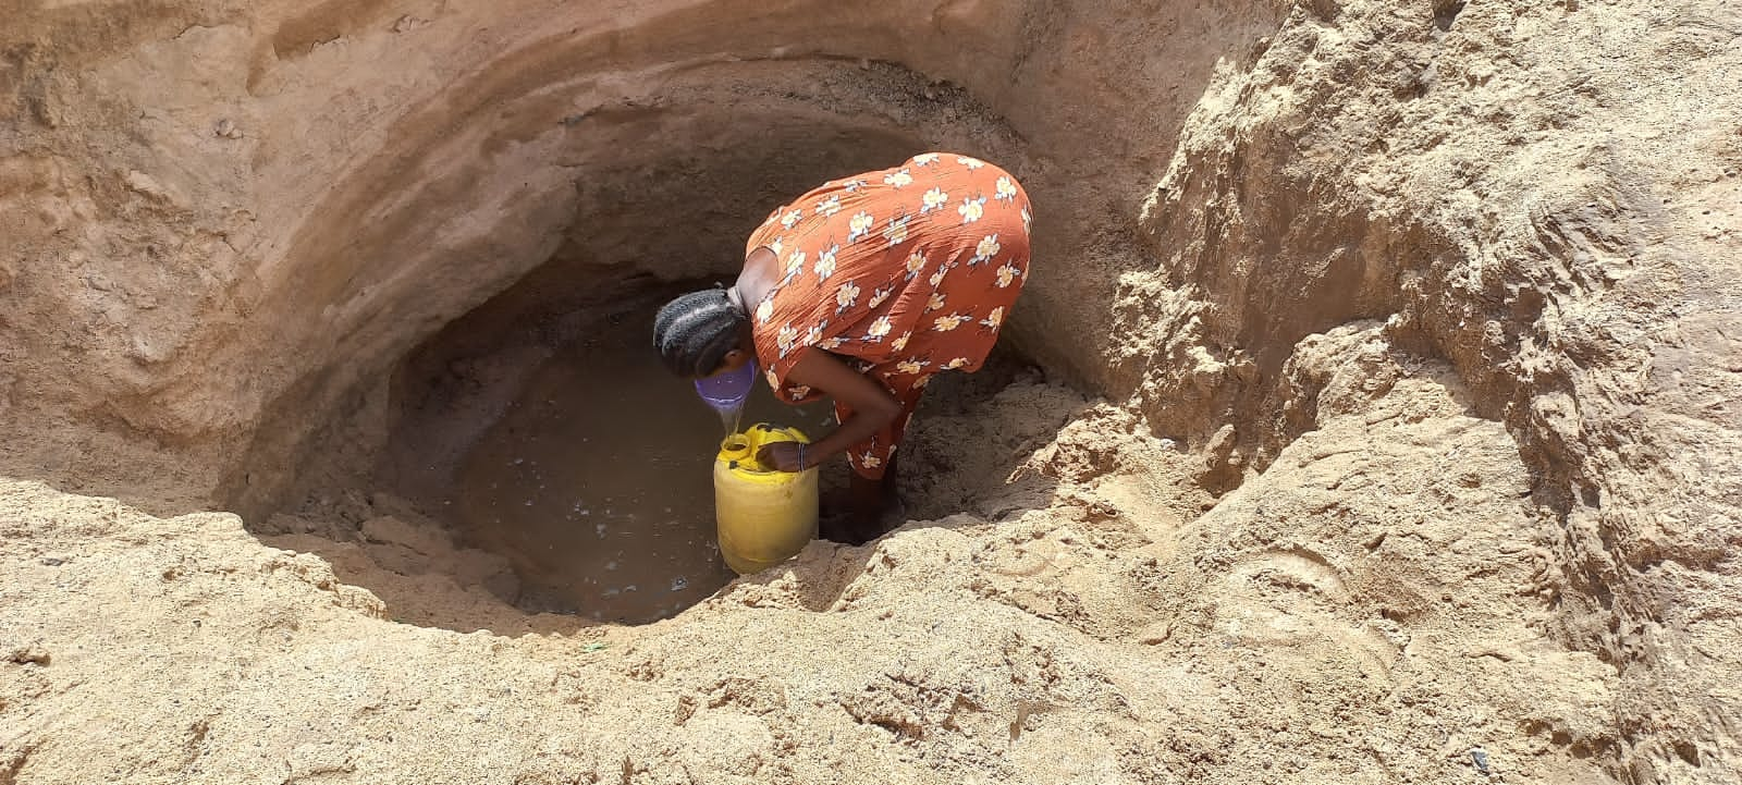
[[[373,517],[404,513],[472,554],[505,557],[517,580],[479,581],[488,569],[446,557],[408,567],[418,574],[483,583],[526,611],[669,616],[730,576],[709,548],[721,428],[653,357],[657,306],[732,280],[749,231],[827,179],[927,150],[970,153],[1024,181],[1056,178],[1059,164],[1031,155],[970,91],[876,59],[707,59],[632,78],[577,77],[556,61],[514,66],[502,80],[477,77],[500,103],[456,89],[455,104],[429,110],[436,125],[411,117],[390,129],[409,138],[406,151],[334,186],[298,233],[289,256],[308,263],[291,270],[294,298],[260,319],[329,352],[298,360],[310,371],[268,402],[219,494],[260,534],[340,543],[322,552],[336,564],[345,543],[368,540]],[[550,82],[523,82],[526,73]],[[1056,207],[1059,228],[1096,212]],[[1050,231],[1045,216],[1036,223]],[[1045,247],[1036,238],[1036,265],[1049,263]],[[995,362],[932,386],[922,428],[928,411],[960,413],[1002,385],[1038,379],[1019,348],[1059,366],[1070,331],[1035,325],[1078,317],[1031,287]],[[1056,428],[1080,404],[1050,390],[1024,393],[1023,406],[1045,399],[1059,416],[1023,423]],[[747,414],[807,432],[824,430],[826,416],[766,399]],[[953,426],[979,428],[969,419]],[[1040,444],[1030,430],[1002,430],[1009,444],[989,451],[981,433],[937,437],[930,466],[904,451],[908,513],[967,510],[984,496],[981,480],[1005,477],[1019,447]],[[824,475],[826,494],[845,472]],[[341,578],[371,587],[366,569]]]

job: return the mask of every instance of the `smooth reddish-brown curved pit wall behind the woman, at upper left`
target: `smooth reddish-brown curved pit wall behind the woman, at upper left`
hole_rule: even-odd
[[[1056,193],[1042,252],[1077,261],[1016,329],[1092,378],[1078,336],[1106,315],[1077,303],[1110,299],[1117,270],[1082,249],[1129,225],[1118,205],[1160,174],[1214,61],[1275,23],[1157,3],[1115,24],[1134,10],[33,10],[3,33],[7,171],[28,198],[5,327],[24,385],[7,421],[40,425],[9,444],[70,487],[260,510],[310,430],[564,237],[601,266],[718,273],[760,218],[746,202],[772,209],[876,146],[974,148]]]

